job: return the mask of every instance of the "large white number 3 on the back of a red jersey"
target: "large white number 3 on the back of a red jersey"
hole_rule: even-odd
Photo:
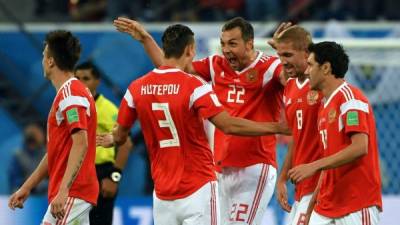
[[[153,111],[161,110],[164,112],[165,120],[158,120],[158,125],[161,128],[167,127],[171,131],[171,134],[172,134],[172,139],[165,139],[165,140],[160,141],[160,148],[180,146],[178,131],[176,130],[175,123],[172,120],[172,116],[169,111],[169,104],[168,103],[152,103],[151,109]]]

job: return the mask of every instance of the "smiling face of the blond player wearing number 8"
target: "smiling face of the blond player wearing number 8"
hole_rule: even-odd
[[[290,77],[303,77],[307,69],[308,53],[294,47],[293,42],[285,41],[276,44],[276,51],[283,69]]]

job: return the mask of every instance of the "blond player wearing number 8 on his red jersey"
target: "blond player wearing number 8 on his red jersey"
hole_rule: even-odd
[[[287,26],[289,24],[289,26]],[[286,182],[287,172],[300,164],[310,163],[322,156],[322,149],[316,118],[321,105],[322,94],[311,90],[305,74],[307,68],[308,46],[311,35],[300,26],[282,23],[272,39],[288,79],[283,99],[286,121],[292,130],[293,143],[288,152],[277,181],[276,197],[282,208],[290,212],[288,224],[297,225],[305,221],[307,208],[316,189],[319,173],[295,184],[295,202],[288,204]]]

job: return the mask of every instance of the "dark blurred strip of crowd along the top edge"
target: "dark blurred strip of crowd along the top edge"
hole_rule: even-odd
[[[398,20],[397,0],[19,0],[31,4],[34,21]],[[12,2],[7,4],[13,4]]]

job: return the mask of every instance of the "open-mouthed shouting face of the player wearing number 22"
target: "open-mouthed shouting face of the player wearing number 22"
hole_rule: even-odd
[[[245,41],[239,27],[222,32],[221,37],[222,54],[234,70],[242,70],[249,62],[249,53],[253,50],[253,40]]]

